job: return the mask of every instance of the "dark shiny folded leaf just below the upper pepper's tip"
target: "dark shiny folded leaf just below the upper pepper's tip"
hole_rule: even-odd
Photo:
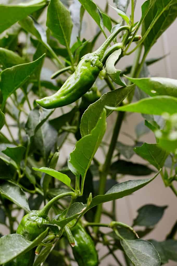
[[[47,110],[44,108],[35,108],[30,111],[27,123],[25,125],[25,131],[31,138],[35,135],[37,130],[45,123],[54,110]]]

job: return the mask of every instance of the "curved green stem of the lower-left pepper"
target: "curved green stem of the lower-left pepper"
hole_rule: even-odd
[[[75,196],[75,193],[74,192],[66,192],[66,193],[62,193],[62,194],[59,194],[57,195],[56,197],[54,197],[53,199],[51,199],[43,208],[42,210],[39,211],[39,216],[42,217],[42,218],[46,218],[48,216],[48,213],[49,213],[49,210],[50,208],[52,207],[52,205],[60,200],[61,198],[63,197],[67,197],[67,196],[71,196],[71,197],[74,197]]]

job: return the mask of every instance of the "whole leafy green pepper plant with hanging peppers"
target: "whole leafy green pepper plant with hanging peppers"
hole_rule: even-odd
[[[139,21],[136,1],[104,2],[105,10],[92,0],[0,5],[0,223],[9,232],[2,230],[0,265],[97,266],[109,255],[119,266],[177,261],[177,222],[163,241],[148,239],[167,206],[147,202],[132,225],[116,218],[116,200],[150,191],[157,176],[177,196],[177,81],[150,77],[148,66],[163,57],[147,59],[175,20],[177,1],[145,1]],[[86,12],[98,27],[92,39],[82,36]],[[131,53],[132,64],[117,69]],[[118,138],[128,112],[144,119],[132,146]],[[139,141],[148,131],[156,143]],[[144,163],[132,162],[135,153]],[[126,175],[131,180],[121,180]],[[107,248],[102,257],[98,244]]]

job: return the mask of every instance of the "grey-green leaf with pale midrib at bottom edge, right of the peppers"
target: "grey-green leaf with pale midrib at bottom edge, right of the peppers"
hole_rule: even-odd
[[[136,266],[160,266],[160,256],[154,246],[142,239],[120,240],[126,255]]]

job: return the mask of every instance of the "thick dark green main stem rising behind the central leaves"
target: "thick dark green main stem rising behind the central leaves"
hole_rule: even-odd
[[[109,146],[109,150],[108,150],[107,155],[106,155],[105,163],[103,164],[102,170],[100,172],[100,187],[99,187],[99,193],[98,193],[99,195],[103,195],[105,193],[106,177],[107,177],[107,174],[109,173],[109,168],[111,165],[111,159],[112,159],[113,152],[114,152],[114,149],[116,146],[116,141],[117,141],[117,138],[118,138],[118,135],[120,132],[120,127],[122,125],[124,114],[125,114],[124,112],[119,112],[117,119],[116,119],[114,131],[113,131],[113,136],[112,136],[111,143]],[[94,222],[96,222],[96,223],[100,222],[101,212],[102,212],[102,204],[99,204],[97,206],[97,211],[95,214]],[[97,227],[94,228],[94,232],[95,233],[98,232]]]

